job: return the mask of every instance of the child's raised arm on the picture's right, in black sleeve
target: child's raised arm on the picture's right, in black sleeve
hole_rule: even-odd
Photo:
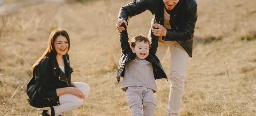
[[[160,25],[160,24],[158,24],[158,25]],[[156,28],[152,27],[152,29],[157,29],[158,25],[156,26]],[[150,44],[151,44],[151,48],[149,49],[149,53],[156,54],[157,47],[158,47],[158,36],[154,35],[154,33],[151,31],[151,38],[149,38],[149,40],[150,40]]]

